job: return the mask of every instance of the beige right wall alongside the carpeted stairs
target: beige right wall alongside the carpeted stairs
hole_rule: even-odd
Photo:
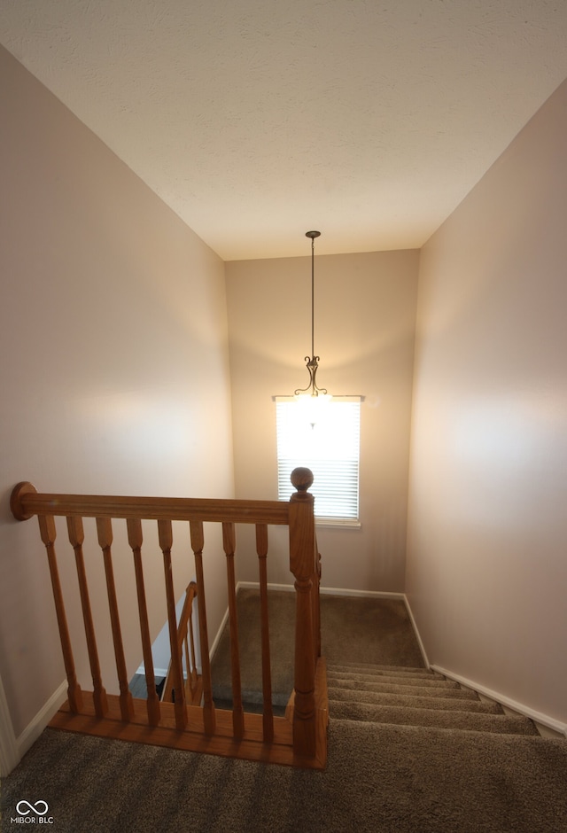
[[[430,661],[567,721],[567,82],[423,248],[407,592]]]

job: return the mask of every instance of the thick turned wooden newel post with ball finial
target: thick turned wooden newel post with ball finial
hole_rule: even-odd
[[[291,472],[297,491],[290,498],[290,570],[295,577],[295,700],[293,750],[312,758],[316,747],[314,633],[315,513],[314,497],[307,489],[313,483],[309,469]]]

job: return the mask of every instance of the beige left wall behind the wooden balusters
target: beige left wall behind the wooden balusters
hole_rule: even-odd
[[[64,674],[37,525],[12,519],[14,484],[230,497],[233,479],[222,261],[1,49],[0,76],[0,678],[18,735]],[[192,573],[182,532],[179,593]],[[62,529],[70,596],[65,536]],[[119,592],[137,615],[126,555],[117,559]],[[88,558],[97,598],[100,552]],[[222,577],[215,558],[213,583]],[[149,549],[147,572],[150,594],[161,599],[163,567]],[[209,605],[213,634],[222,598]],[[105,627],[104,603],[95,607]],[[75,603],[68,614],[80,642]],[[151,619],[157,633],[161,602]],[[126,621],[123,629],[133,672],[141,650]],[[101,650],[112,669],[110,646]],[[109,690],[112,676],[105,673]]]

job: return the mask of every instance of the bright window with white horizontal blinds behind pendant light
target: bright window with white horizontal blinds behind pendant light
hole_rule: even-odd
[[[276,397],[277,495],[289,501],[291,471],[313,471],[315,517],[358,522],[361,397]]]

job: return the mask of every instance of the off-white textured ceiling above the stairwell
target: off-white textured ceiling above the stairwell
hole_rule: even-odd
[[[567,75],[565,0],[1,0],[224,260],[423,245]]]

